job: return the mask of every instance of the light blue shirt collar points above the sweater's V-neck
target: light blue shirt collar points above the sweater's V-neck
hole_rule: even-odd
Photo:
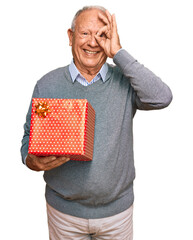
[[[69,65],[69,72],[73,82],[75,82],[78,75],[82,76],[81,73],[78,71],[76,65],[74,64],[73,60]],[[96,76],[100,74],[102,81],[105,82],[107,72],[108,72],[108,65],[107,63],[104,63],[100,71],[96,74]]]

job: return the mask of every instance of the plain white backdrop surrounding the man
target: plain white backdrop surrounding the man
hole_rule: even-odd
[[[191,0],[7,0],[0,3],[3,239],[48,239],[42,173],[21,163],[36,81],[71,61],[67,29],[84,5],[116,14],[123,48],[172,89],[172,104],[134,120],[134,240],[193,239]]]

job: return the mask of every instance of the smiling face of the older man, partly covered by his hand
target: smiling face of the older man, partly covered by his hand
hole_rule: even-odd
[[[98,30],[105,25],[98,18],[99,11],[92,9],[81,13],[76,20],[75,31],[68,30],[74,62],[80,72],[99,71],[107,59],[95,39]]]

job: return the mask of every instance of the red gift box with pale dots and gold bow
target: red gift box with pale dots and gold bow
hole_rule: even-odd
[[[94,126],[95,111],[86,99],[33,98],[28,152],[90,161]]]

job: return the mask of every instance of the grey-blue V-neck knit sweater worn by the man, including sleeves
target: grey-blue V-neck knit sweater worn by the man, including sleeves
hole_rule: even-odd
[[[40,79],[36,98],[87,99],[96,112],[91,162],[69,161],[44,172],[46,200],[55,209],[82,218],[103,218],[129,208],[135,178],[133,117],[137,109],[169,105],[169,87],[125,50],[108,65],[105,81],[87,87],[72,82],[68,66]],[[22,158],[27,156],[31,105],[24,125]]]

